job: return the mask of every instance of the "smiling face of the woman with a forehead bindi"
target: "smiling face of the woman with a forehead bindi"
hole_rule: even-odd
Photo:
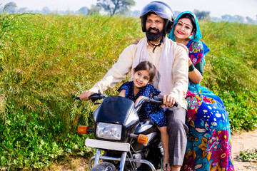
[[[183,41],[193,33],[193,24],[190,19],[179,19],[175,28],[174,35],[176,41]]]

